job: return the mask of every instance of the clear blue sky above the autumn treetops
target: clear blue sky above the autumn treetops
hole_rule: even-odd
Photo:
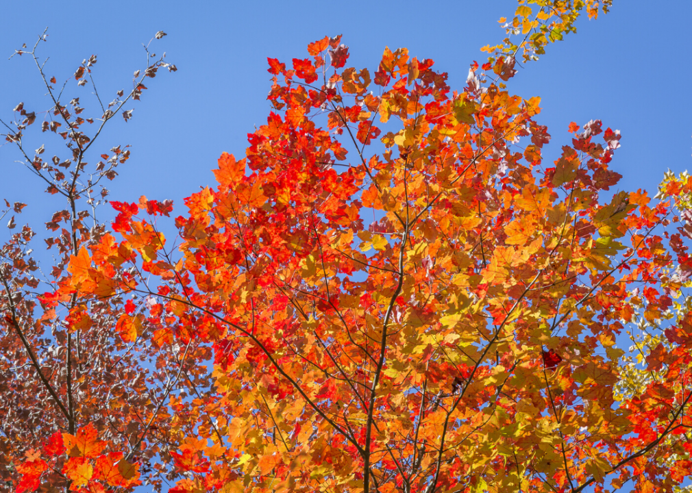
[[[509,17],[515,5],[514,0],[7,2],[0,21],[0,118],[9,119],[20,101],[32,110],[47,107],[45,99],[38,103],[45,91],[30,60],[7,60],[22,43],[33,45],[46,26],[49,41],[40,53],[51,57],[47,73],[65,80],[82,59],[96,54],[94,76],[107,100],[131,87],[132,72],[143,64],[141,44],[164,30],[168,36],[154,41],[154,51],[165,50],[179,71],[149,80],[143,100],[131,105],[134,118],[111,122],[95,151],[132,146],[132,158],[109,183],[111,198],[172,198],[181,210],[181,198],[213,184],[210,169],[221,152],[242,156],[246,133],[266,121],[266,57],[284,62],[307,57],[307,43],[343,33],[352,54],[348,66],[374,68],[385,46],[405,46],[412,55],[435,59],[437,69],[450,74],[450,86],[462,89],[468,64],[483,59],[480,46],[502,39],[497,21]],[[690,18],[689,1],[653,8],[650,1],[615,0],[609,15],[580,19],[576,35],[549,46],[547,55],[521,70],[510,90],[542,97],[538,120],[553,136],[547,156],[569,142],[569,122],[601,118],[623,134],[613,162],[625,177],[621,189],[654,191],[668,167],[692,168],[691,55],[682,27]],[[69,91],[82,95],[82,106],[94,107],[91,84],[78,89],[71,81]],[[42,135],[33,130],[28,147],[33,142],[39,147]],[[17,158],[9,145],[0,147],[0,198],[30,205],[20,223],[47,221],[47,212],[34,214],[57,196],[37,195],[42,185],[13,162]],[[57,207],[62,208],[55,202],[50,210]]]

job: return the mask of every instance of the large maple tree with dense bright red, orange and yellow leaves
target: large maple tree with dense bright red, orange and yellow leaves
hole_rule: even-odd
[[[111,337],[152,341],[187,387],[150,414],[176,443],[158,456],[184,475],[171,492],[652,492],[689,476],[676,300],[692,183],[614,192],[620,134],[600,120],[543,161],[540,100],[504,83],[610,2],[531,4],[463,92],[403,48],[372,75],[345,68],[340,36],[292,68],[268,59],[267,124],[186,199],[176,245],[156,222],[170,205],[147,198],[75,241],[44,299],[107,306]],[[617,347],[628,329],[638,362]]]

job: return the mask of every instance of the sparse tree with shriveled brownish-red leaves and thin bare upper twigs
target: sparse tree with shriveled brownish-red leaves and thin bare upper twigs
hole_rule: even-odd
[[[95,86],[95,55],[57,85],[47,72],[53,68],[39,57],[46,39],[44,32],[33,48],[25,46],[15,55],[37,66],[48,109],[34,111],[19,103],[11,120],[1,120],[6,142],[34,175],[28,183],[47,186],[59,205],[44,212],[47,235],[29,225],[18,227],[26,204],[5,201],[2,211],[2,217],[12,215],[10,239],[0,250],[0,490],[10,491],[14,481],[18,492],[41,483],[44,490],[57,491],[76,488],[91,476],[127,487],[140,483],[140,474],[153,473],[152,483],[160,490],[172,472],[152,459],[165,457],[177,441],[166,405],[168,393],[179,387],[171,370],[179,364],[177,351],[148,333],[136,341],[118,335],[115,322],[131,310],[131,301],[85,300],[57,288],[69,275],[71,256],[97,244],[106,231],[96,216],[109,193],[104,178],[113,180],[130,155],[127,146],[103,147],[102,129],[117,115],[127,122],[132,110],[125,105],[140,100],[147,78],[176,67],[149,53],[147,45],[147,63],[134,73],[132,89],[118,91],[108,103]],[[96,106],[91,111],[89,96],[80,95],[89,88]],[[48,255],[35,253],[42,244],[53,257],[48,263]],[[194,351],[197,346],[190,348]],[[188,377],[206,382],[198,380],[206,376],[200,371],[190,369]],[[42,459],[42,453],[49,458]]]

